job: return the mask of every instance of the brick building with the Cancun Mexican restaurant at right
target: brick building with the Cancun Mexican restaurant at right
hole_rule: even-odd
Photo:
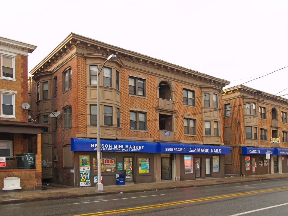
[[[238,85],[223,90],[222,103],[226,174],[287,173],[287,99]]]

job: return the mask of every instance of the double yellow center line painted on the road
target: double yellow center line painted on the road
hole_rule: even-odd
[[[144,209],[149,209],[149,208],[160,208],[160,207],[165,207],[165,206],[170,206],[170,205],[180,205],[180,204],[186,204],[186,203],[191,203],[191,202],[221,199],[221,198],[227,198],[227,197],[232,197],[232,196],[243,196],[243,195],[248,195],[248,194],[253,194],[253,193],[264,193],[264,192],[284,190],[284,189],[288,189],[288,187],[278,187],[278,188],[271,188],[271,189],[265,189],[265,190],[254,190],[254,191],[248,191],[248,192],[242,192],[242,193],[231,193],[231,194],[225,194],[225,195],[220,195],[220,196],[210,196],[210,197],[204,197],[204,198],[198,198],[198,199],[167,202],[167,203],[161,203],[161,204],[155,204],[155,205],[146,205],[146,206],[139,206],[139,207],[133,207],[133,208],[123,208],[123,209],[101,211],[101,212],[94,212],[94,213],[88,213],[88,214],[77,214],[74,216],[99,216],[99,215],[107,215],[107,214],[116,214],[116,213],[121,213],[121,212],[139,211],[139,210],[144,210]]]

